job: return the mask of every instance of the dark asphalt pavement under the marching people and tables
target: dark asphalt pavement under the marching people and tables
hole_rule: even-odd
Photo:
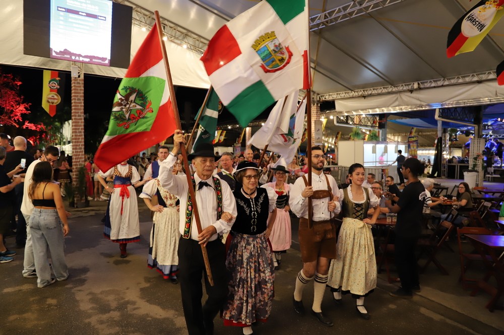
[[[139,199],[140,200],[140,199]],[[103,237],[100,219],[105,203],[91,202],[86,209],[72,209],[71,232],[66,238],[66,260],[70,277],[39,289],[36,279],[26,279],[23,249],[15,248],[14,238],[8,248],[18,254],[15,260],[0,264],[0,334],[186,334],[179,285],[164,280],[147,267],[151,220],[140,200],[141,241],[128,246],[128,257],[119,258],[117,244]],[[293,245],[282,256],[275,274],[275,299],[267,323],[253,327],[261,334],[502,334],[502,311],[490,313],[484,308],[489,296],[470,297],[457,281],[457,261],[451,276],[443,276],[431,266],[422,276],[422,292],[413,299],[398,299],[388,293],[398,284],[389,284],[384,274],[378,287],[365,300],[369,320],[359,317],[355,301],[343,297],[343,304],[332,301],[329,290],[322,303],[324,313],[335,325],[326,327],[312,315],[296,314],[292,293],[301,269],[297,243],[297,219],[293,219]],[[446,257],[458,260],[447,252]],[[303,294],[307,311],[313,289]],[[216,334],[241,334],[241,329],[224,327],[215,320]]]

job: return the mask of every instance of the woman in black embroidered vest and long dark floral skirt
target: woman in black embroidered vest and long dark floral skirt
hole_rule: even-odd
[[[277,196],[271,187],[258,187],[262,171],[253,162],[238,164],[233,174],[237,216],[226,240],[231,278],[224,325],[242,327],[245,335],[253,333],[252,323],[266,322],[273,304],[274,264],[268,237]]]

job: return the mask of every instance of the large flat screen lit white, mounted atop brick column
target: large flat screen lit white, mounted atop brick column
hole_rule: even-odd
[[[109,0],[24,0],[24,53],[128,68],[132,11]]]

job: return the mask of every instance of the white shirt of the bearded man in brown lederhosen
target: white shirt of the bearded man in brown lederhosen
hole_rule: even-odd
[[[331,191],[333,195],[338,195],[338,184],[336,183],[336,180],[334,180],[334,177],[331,175],[325,175],[324,173],[321,173],[320,176],[317,175],[316,173],[311,173],[311,186],[313,186],[313,190],[327,190],[327,182],[326,182],[326,177],[329,180],[329,185],[331,186]],[[308,180],[308,177],[306,176],[306,180]],[[299,177],[296,179],[296,182],[294,185],[292,185],[292,188],[290,189],[290,198],[289,198],[289,206],[290,210],[292,213],[294,213],[298,218],[305,218],[308,219],[308,199],[303,197],[301,195],[301,192],[304,190],[306,186],[304,185],[304,180],[302,177]],[[341,211],[341,206],[338,202],[336,202],[336,209],[333,211],[334,215],[331,215],[327,208],[328,202],[332,200],[327,198],[322,198],[322,199],[312,199],[311,200],[311,205],[313,207],[313,221],[327,221],[340,213]]]

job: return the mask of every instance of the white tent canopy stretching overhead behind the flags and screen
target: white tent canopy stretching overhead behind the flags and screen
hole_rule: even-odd
[[[134,11],[136,24],[142,20],[135,13],[158,10],[161,17],[207,41],[228,20],[257,4],[246,0],[114,1],[141,9]],[[23,55],[23,4],[6,2],[0,10],[4,36],[0,63],[69,70],[65,61]],[[341,112],[504,101],[504,88],[495,80],[496,65],[504,60],[504,22],[497,23],[473,52],[446,56],[448,32],[474,5],[467,0],[310,0],[313,91],[319,100],[336,100],[336,110]],[[325,15],[318,17],[321,13]],[[145,32],[134,26],[132,33],[135,53]],[[174,43],[166,45],[176,85],[209,86],[200,54]],[[110,77],[124,74],[122,69],[87,64],[84,72]],[[473,76],[483,73],[490,75],[483,80]],[[460,79],[450,80],[454,77]],[[422,86],[429,81],[433,84]]]

